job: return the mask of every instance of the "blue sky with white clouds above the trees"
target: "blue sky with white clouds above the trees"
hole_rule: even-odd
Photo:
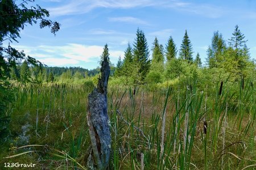
[[[51,20],[61,24],[56,36],[39,25],[28,25],[21,32],[18,49],[48,66],[99,64],[103,46],[108,43],[110,61],[133,44],[137,28],[144,31],[148,47],[154,38],[165,46],[173,37],[180,48],[185,29],[193,45],[193,57],[199,52],[205,61],[214,31],[230,39],[238,24],[244,33],[251,58],[256,58],[256,1],[181,1],[181,0],[42,0],[35,1],[50,12]]]

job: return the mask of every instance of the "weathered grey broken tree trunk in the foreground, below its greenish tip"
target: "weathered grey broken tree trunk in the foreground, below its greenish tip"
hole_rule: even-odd
[[[101,77],[97,88],[88,96],[87,123],[89,125],[92,150],[90,152],[88,169],[106,169],[109,163],[111,137],[108,117],[107,87],[110,67],[105,57],[101,65]]]

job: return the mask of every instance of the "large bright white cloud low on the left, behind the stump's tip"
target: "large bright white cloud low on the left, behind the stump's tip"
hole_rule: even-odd
[[[63,46],[14,46],[16,49],[24,50],[27,55],[39,59],[46,65],[73,65],[79,62],[97,62],[103,52],[103,46],[87,46],[82,44],[67,44]],[[120,50],[109,50],[110,61],[123,57]]]

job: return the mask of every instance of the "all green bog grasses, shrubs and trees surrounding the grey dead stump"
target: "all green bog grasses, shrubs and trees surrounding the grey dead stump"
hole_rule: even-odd
[[[9,1],[0,7],[3,2]],[[38,18],[47,16],[42,12]],[[42,23],[53,33],[59,28]],[[99,69],[44,66],[5,48],[6,35],[18,36],[6,32],[0,39],[1,167],[32,162],[39,169],[86,169],[86,106]],[[166,45],[155,38],[150,56],[151,45],[137,29],[124,59],[110,67],[108,169],[256,168],[255,62],[238,25],[230,35],[224,40],[213,33],[203,65],[187,31],[179,50],[171,36]]]

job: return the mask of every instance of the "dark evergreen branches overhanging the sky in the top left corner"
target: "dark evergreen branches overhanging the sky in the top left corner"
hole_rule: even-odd
[[[49,17],[46,9],[38,5],[28,8],[26,7],[28,2],[34,1],[23,1],[20,5],[16,5],[13,0],[0,2],[0,42],[6,39],[17,41],[16,38],[20,37],[19,32],[24,29],[24,25],[35,24],[38,20],[40,20],[40,28],[51,27],[51,32],[54,34],[59,31],[59,23],[44,19]]]

